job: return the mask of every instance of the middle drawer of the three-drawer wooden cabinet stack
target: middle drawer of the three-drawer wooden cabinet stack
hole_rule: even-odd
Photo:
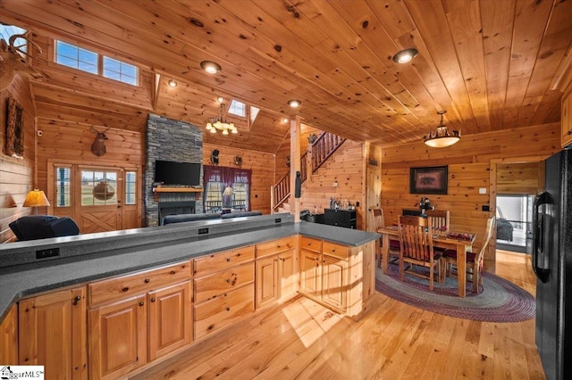
[[[195,279],[195,302],[204,302],[254,281],[254,261]]]

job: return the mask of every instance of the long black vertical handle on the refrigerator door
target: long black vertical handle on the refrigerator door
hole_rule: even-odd
[[[543,204],[550,203],[550,196],[546,192],[542,192],[534,198],[533,204],[533,269],[536,277],[546,282],[550,265],[548,262],[548,253],[544,252],[544,214],[540,212]]]

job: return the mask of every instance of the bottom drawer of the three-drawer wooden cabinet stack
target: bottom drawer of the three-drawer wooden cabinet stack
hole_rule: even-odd
[[[195,339],[199,339],[254,312],[254,284],[223,293],[194,309]]]

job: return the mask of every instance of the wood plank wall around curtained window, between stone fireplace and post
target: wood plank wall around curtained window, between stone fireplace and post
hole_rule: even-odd
[[[219,166],[238,168],[234,164],[234,157],[242,158],[242,169],[252,169],[252,186],[250,188],[250,210],[270,214],[270,186],[274,178],[274,154],[248,151],[203,144],[203,163],[209,165],[211,153],[214,149],[219,151]]]

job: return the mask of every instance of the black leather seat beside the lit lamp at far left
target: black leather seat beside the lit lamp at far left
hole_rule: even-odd
[[[8,226],[18,241],[80,235],[80,228],[73,219],[53,215],[28,215],[14,220]]]

